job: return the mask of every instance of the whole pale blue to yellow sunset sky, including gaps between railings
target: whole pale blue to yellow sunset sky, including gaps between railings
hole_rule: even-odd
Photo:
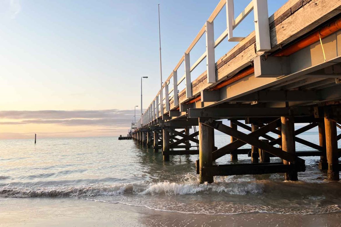
[[[160,89],[158,4],[164,81],[218,2],[0,0],[0,139],[127,134],[140,106],[140,77],[148,76],[144,108]],[[235,1],[235,16],[249,2]],[[269,16],[285,2],[268,0]],[[225,29],[224,7],[215,38]],[[251,13],[234,36],[253,30]],[[216,60],[235,45],[224,40]],[[204,52],[205,36],[191,63]],[[203,61],[192,80],[205,70]]]

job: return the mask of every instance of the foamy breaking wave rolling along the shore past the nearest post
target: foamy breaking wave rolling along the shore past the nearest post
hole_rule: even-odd
[[[51,182],[36,183],[10,183],[0,185],[1,197],[89,197],[99,195],[186,195],[197,193],[227,193],[232,195],[261,194],[264,190],[262,182],[217,182],[212,184],[199,184],[197,178],[188,176],[187,181],[182,182],[158,182],[150,184],[102,184],[41,187],[53,185]],[[38,187],[37,187],[38,186]]]

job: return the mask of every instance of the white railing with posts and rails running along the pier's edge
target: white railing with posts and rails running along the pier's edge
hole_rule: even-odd
[[[214,25],[213,21],[218,16],[220,11],[226,5],[226,22],[227,26],[225,31],[214,40]],[[145,113],[137,122],[137,128],[146,126],[151,121],[160,117],[163,114],[163,109],[168,112],[170,110],[169,101],[174,100],[174,108],[179,106],[178,99],[178,85],[185,81],[186,98],[192,98],[191,88],[191,72],[206,58],[206,70],[207,70],[207,83],[216,82],[216,60],[214,58],[214,48],[216,48],[226,37],[229,42],[240,42],[244,37],[234,37],[233,29],[236,28],[239,23],[249,14],[254,11],[254,25],[256,36],[256,48],[257,51],[267,51],[271,49],[270,45],[270,31],[269,31],[269,16],[268,16],[268,3],[267,0],[252,0],[247,7],[235,18],[234,17],[234,4],[233,0],[220,0],[210,17],[207,19],[199,33],[195,36],[194,40],[181,56],[178,64],[173,69],[172,73],[165,80],[162,88],[150,103]],[[197,59],[193,65],[190,65],[190,52],[199,39],[206,34],[206,51]],[[184,63],[184,75],[178,80],[178,69],[180,65]],[[169,90],[169,82],[173,78],[173,87]],[[163,88],[165,89],[165,97],[160,101],[164,102],[162,106],[159,105],[159,96],[162,97]],[[174,92],[172,97],[169,95]],[[160,110],[160,111],[159,111]],[[160,113],[161,112],[161,113]]]

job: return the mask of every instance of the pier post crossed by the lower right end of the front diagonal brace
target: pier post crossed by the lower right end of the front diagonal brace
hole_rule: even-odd
[[[293,116],[281,117],[282,123],[282,150],[295,155],[295,123]],[[291,163],[283,160],[283,164],[290,165]],[[285,180],[298,180],[297,172],[285,173]]]

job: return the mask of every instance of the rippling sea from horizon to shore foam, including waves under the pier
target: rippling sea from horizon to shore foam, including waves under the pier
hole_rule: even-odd
[[[316,132],[300,137],[318,144]],[[217,147],[229,140],[215,136]],[[296,149],[312,150],[300,144]],[[326,181],[326,173],[318,169],[320,157],[303,157],[307,170],[298,174],[297,182],[284,182],[283,174],[267,174],[215,177],[212,184],[199,184],[197,155],[171,156],[163,162],[161,152],[117,137],[38,139],[37,144],[1,140],[0,150],[2,198],[70,197],[212,215],[341,211],[341,183]],[[217,160],[230,162],[229,155]],[[238,163],[250,163],[250,158],[239,155]]]

